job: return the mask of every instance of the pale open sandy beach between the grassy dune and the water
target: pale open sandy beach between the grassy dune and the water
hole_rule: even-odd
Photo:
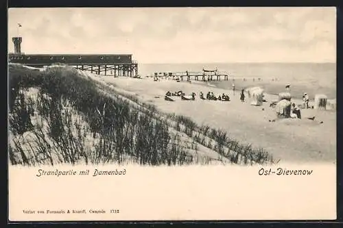
[[[152,79],[102,77],[102,80],[137,94],[139,99],[153,103],[163,112],[175,112],[193,118],[199,125],[224,129],[231,137],[241,142],[249,142],[253,147],[263,147],[276,159],[284,162],[335,162],[335,112],[302,110],[303,120],[271,123],[269,120],[274,119],[275,114],[268,103],[264,104],[263,111],[263,107],[241,103],[239,94],[233,96],[230,90],[176,81],[154,82]],[[176,102],[167,102],[163,99],[167,90],[182,90],[186,94],[196,92],[196,101],[181,101],[180,97],[176,97]],[[229,94],[231,101],[198,99],[200,91],[206,94],[209,90],[215,94]],[[271,99],[268,95],[266,98]],[[307,120],[307,116],[316,116],[316,121]],[[324,123],[319,124],[317,120]]]

